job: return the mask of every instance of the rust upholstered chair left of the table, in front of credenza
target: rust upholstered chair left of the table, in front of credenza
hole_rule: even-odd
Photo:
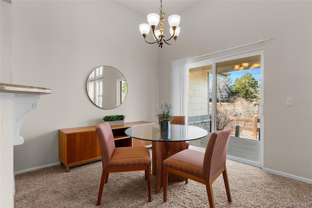
[[[145,170],[147,179],[148,202],[151,202],[151,156],[147,147],[115,147],[114,136],[108,122],[97,125],[96,131],[102,154],[102,177],[98,191],[97,206],[101,203],[104,183],[107,183],[108,174]]]

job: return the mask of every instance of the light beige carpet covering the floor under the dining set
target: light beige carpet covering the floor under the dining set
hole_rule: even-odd
[[[213,184],[217,208],[280,208],[281,203],[308,203],[312,207],[312,184],[267,173],[227,160],[233,202],[227,201],[222,175]],[[15,208],[95,208],[101,177],[101,161],[74,166],[53,166],[15,176]],[[294,204],[295,205],[295,204]],[[298,205],[298,204],[297,204]],[[162,189],[147,202],[144,171],[110,173],[101,201],[102,208],[207,208],[206,187],[195,181],[169,183],[168,201]],[[298,206],[296,206],[298,207]]]

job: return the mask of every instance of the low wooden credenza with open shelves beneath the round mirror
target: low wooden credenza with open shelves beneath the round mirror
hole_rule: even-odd
[[[111,126],[116,147],[148,146],[152,143],[133,139],[125,135],[125,130],[134,125],[153,124],[146,121],[129,122]],[[101,159],[96,126],[59,129],[59,160],[66,167]]]

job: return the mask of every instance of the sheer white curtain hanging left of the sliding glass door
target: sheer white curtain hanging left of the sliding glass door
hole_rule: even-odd
[[[171,63],[171,104],[172,114],[185,116],[187,123],[187,105],[189,89],[189,59],[180,59]]]

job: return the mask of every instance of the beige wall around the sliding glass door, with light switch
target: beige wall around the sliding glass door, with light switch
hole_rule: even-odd
[[[170,100],[172,61],[272,38],[205,58],[264,48],[264,168],[312,180],[311,8],[312,1],[299,0],[198,1],[179,14],[176,44],[163,46],[159,102]]]

